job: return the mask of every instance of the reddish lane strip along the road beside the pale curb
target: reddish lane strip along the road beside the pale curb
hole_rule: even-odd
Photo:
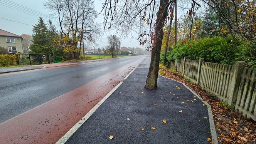
[[[0,124],[0,142],[55,143],[143,59],[124,65],[87,84]]]

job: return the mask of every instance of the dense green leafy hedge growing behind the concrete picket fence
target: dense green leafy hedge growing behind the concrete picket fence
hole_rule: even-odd
[[[171,51],[167,52],[167,62],[188,57],[188,59],[199,60],[199,58],[204,58],[206,62],[232,65],[238,60],[248,62],[245,56],[247,49],[248,45],[243,40],[233,40],[231,36],[204,37],[191,40],[190,44],[180,40]],[[162,61],[163,54],[160,58]]]

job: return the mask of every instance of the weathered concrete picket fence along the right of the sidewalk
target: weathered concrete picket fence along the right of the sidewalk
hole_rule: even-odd
[[[228,102],[243,116],[256,120],[256,69],[246,67],[246,62],[224,65],[184,57],[170,64],[218,100]]]

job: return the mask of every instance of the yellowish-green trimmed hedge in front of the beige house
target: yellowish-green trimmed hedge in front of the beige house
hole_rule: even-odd
[[[19,65],[19,54],[3,54],[0,55],[0,67]]]

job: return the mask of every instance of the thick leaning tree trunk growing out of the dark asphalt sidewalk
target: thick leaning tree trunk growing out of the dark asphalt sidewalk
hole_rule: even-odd
[[[163,24],[167,15],[169,0],[161,0],[157,12],[157,21],[155,27],[155,42],[151,52],[151,62],[148,70],[145,89],[157,88],[157,76],[159,69],[160,51],[163,40]]]

